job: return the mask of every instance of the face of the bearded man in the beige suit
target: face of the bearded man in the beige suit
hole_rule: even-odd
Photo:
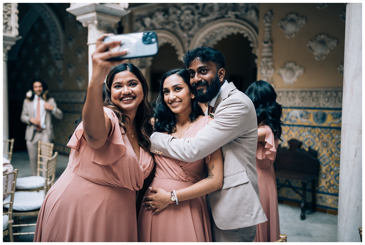
[[[224,81],[224,68],[218,70],[212,61],[202,62],[196,58],[190,62],[188,72],[198,102],[210,102],[217,96]]]

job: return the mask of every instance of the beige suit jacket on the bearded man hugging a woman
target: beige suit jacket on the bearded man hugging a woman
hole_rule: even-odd
[[[219,229],[245,228],[265,222],[260,204],[257,171],[257,117],[249,97],[229,83],[214,106],[214,119],[193,138],[176,139],[164,133],[151,138],[151,152],[194,162],[222,147],[223,187],[209,194]]]

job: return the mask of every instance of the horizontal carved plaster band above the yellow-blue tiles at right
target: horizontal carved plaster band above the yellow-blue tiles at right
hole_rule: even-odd
[[[285,107],[342,108],[342,89],[276,89]]]

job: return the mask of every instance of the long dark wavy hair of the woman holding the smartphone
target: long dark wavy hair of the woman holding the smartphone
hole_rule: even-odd
[[[143,100],[141,104],[139,104],[137,109],[137,114],[135,117],[135,130],[138,132],[138,144],[145,150],[149,151],[151,147],[150,135],[152,132],[152,125],[150,123],[151,119],[151,103],[148,100],[148,85],[145,77],[143,77],[141,71],[132,63],[123,63],[117,66],[114,66],[107,76],[106,86],[105,86],[105,98],[104,98],[104,106],[112,109],[119,120],[119,125],[124,129],[124,133],[127,132],[126,128],[126,118],[128,116],[124,115],[118,107],[116,107],[111,99],[111,86],[114,81],[114,77],[117,73],[122,71],[130,71],[133,73],[138,80],[142,84],[143,88]]]

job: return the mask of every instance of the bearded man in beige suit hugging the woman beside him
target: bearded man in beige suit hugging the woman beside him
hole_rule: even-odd
[[[193,138],[164,133],[151,136],[151,152],[194,162],[222,147],[222,189],[209,194],[213,241],[252,242],[258,223],[265,222],[256,171],[257,116],[249,97],[224,80],[224,57],[214,48],[197,47],[184,55],[199,102],[208,102],[214,119]],[[173,218],[173,217],[172,217]]]

